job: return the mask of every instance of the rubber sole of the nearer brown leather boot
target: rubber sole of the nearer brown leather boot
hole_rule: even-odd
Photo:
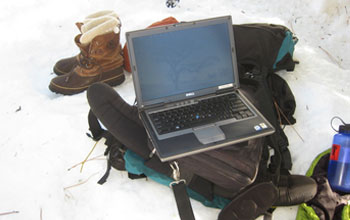
[[[125,81],[125,75],[122,73],[121,75],[115,76],[113,78],[101,80],[98,82],[106,83],[110,86],[117,86],[122,84]],[[58,94],[63,94],[63,95],[74,95],[81,93],[85,91],[90,85],[83,86],[83,87],[77,87],[77,88],[69,88],[69,87],[64,87],[64,86],[59,86],[53,82],[50,82],[49,89]]]

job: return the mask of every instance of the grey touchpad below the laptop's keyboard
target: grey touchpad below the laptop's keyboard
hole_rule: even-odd
[[[216,125],[193,128],[193,133],[202,144],[210,144],[226,138],[221,128]]]

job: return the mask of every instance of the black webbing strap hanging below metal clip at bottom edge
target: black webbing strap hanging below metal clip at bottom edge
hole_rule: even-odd
[[[177,209],[179,211],[181,220],[195,220],[193,210],[186,191],[186,184],[184,181],[179,181],[172,185],[174,191]]]

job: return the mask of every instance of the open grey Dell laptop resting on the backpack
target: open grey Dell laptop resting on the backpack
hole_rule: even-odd
[[[126,33],[139,116],[161,161],[272,134],[239,90],[231,16]]]

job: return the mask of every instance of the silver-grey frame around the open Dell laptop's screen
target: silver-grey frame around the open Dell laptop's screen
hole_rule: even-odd
[[[226,24],[228,28],[229,39],[231,44],[230,46],[231,46],[231,57],[232,57],[232,69],[234,71],[234,73],[232,73],[233,82],[232,83],[230,82],[229,84],[225,84],[225,85],[209,87],[205,89],[190,91],[190,92],[171,95],[167,97],[156,98],[156,99],[147,100],[147,101],[143,100],[141,85],[140,85],[139,76],[138,76],[138,69],[135,63],[136,61],[135,61],[135,54],[134,54],[133,39],[142,37],[142,36],[150,36],[153,34],[160,34],[165,32],[176,31],[176,30],[185,30],[193,27],[203,27],[203,26],[215,25],[215,24]],[[220,89],[239,88],[239,76],[238,76],[239,74],[238,74],[238,68],[237,68],[237,57],[236,57],[236,49],[235,49],[235,41],[234,41],[234,33],[232,28],[231,16],[210,18],[210,19],[191,21],[191,22],[181,22],[181,23],[176,23],[172,25],[165,25],[165,26],[154,27],[149,29],[131,31],[126,33],[126,40],[127,40],[127,48],[129,52],[130,66],[132,70],[132,77],[134,82],[134,89],[136,93],[136,100],[139,108],[147,108],[147,106],[154,106],[158,104],[166,104],[166,103],[172,103],[172,102],[182,101],[186,99],[193,99],[196,97],[213,94]]]

